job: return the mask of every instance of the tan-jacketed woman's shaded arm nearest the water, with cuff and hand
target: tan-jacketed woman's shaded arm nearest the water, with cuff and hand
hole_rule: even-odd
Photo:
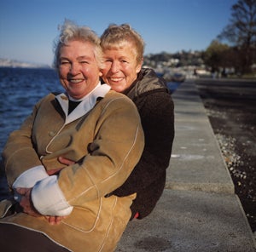
[[[39,216],[31,200],[32,187],[39,181],[53,175],[57,169],[46,172],[38,153],[32,145],[32,125],[38,113],[41,101],[34,106],[32,114],[22,123],[20,129],[9,135],[9,140],[3,150],[3,161],[9,185],[14,189],[15,200],[20,203],[24,212]],[[48,217],[49,222],[59,223],[59,217]],[[53,218],[55,218],[53,220]]]

